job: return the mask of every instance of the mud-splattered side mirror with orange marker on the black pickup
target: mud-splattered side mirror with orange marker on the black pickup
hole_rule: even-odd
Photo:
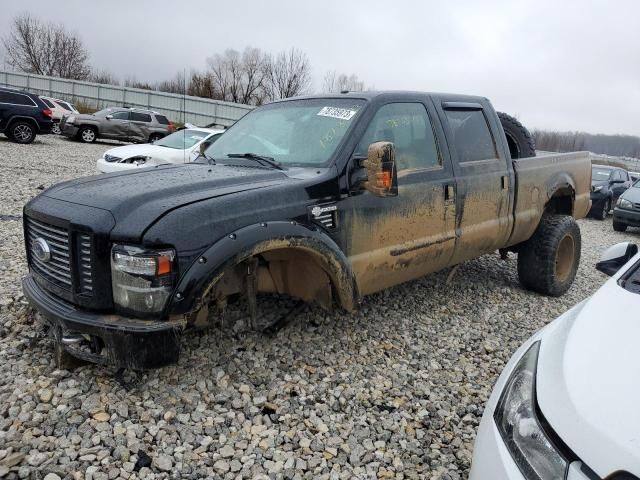
[[[375,142],[369,145],[367,158],[362,162],[367,170],[364,189],[378,197],[398,195],[396,148],[391,142]]]

